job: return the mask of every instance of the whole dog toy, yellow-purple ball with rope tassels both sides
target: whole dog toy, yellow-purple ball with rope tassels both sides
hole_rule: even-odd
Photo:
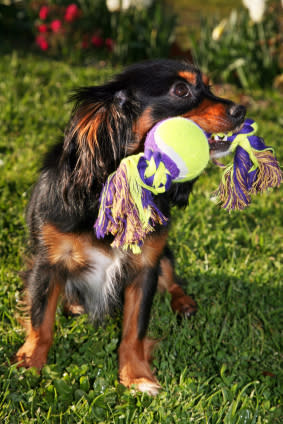
[[[112,234],[112,247],[140,253],[147,234],[167,222],[154,196],[168,191],[172,183],[199,176],[209,161],[209,141],[219,138],[230,142],[234,152],[234,161],[215,192],[223,208],[241,210],[250,203],[251,194],[278,187],[281,169],[273,149],[254,135],[256,130],[250,119],[234,134],[208,134],[183,117],[156,124],[146,137],[144,153],[123,159],[108,177],[94,225],[97,237]]]

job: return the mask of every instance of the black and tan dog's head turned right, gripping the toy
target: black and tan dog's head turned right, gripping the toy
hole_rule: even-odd
[[[207,78],[193,65],[155,60],[133,65],[99,87],[83,87],[73,96],[75,107],[66,132],[65,149],[78,155],[78,178],[105,178],[121,159],[143,151],[152,126],[165,118],[184,116],[207,132],[237,129],[245,107],[212,94]],[[211,145],[214,152],[228,144]]]

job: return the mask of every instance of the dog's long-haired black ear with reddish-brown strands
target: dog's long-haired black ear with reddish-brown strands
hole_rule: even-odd
[[[126,90],[111,83],[80,88],[71,100],[75,106],[64,149],[75,149],[74,182],[90,188],[94,181],[105,182],[135,142],[133,123],[138,107]]]

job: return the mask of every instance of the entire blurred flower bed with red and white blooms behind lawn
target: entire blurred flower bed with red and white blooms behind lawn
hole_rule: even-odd
[[[24,51],[78,64],[193,57],[213,82],[271,86],[282,75],[283,0],[231,4],[232,12],[221,0],[0,0],[2,51],[10,37]]]

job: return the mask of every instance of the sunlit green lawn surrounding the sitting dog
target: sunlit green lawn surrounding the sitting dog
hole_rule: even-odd
[[[63,131],[68,92],[113,72],[16,54],[0,61],[0,422],[279,424],[282,192],[228,214],[210,201],[220,179],[213,166],[190,207],[174,211],[170,244],[199,311],[179,322],[168,296],[156,296],[150,334],[162,338],[153,362],[163,387],[158,396],[133,395],[118,382],[119,317],[96,328],[59,310],[42,374],[9,364],[24,340],[16,319],[24,209],[42,154]],[[253,93],[249,116],[282,161],[281,112],[278,94]]]

